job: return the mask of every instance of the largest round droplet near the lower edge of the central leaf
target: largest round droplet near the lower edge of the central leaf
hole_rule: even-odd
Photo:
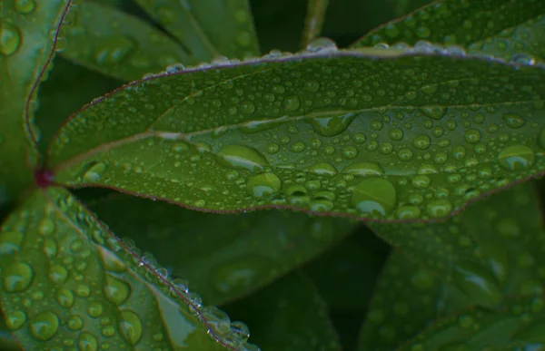
[[[353,189],[352,206],[362,213],[386,216],[393,210],[397,193],[390,181],[381,178],[362,180]]]

